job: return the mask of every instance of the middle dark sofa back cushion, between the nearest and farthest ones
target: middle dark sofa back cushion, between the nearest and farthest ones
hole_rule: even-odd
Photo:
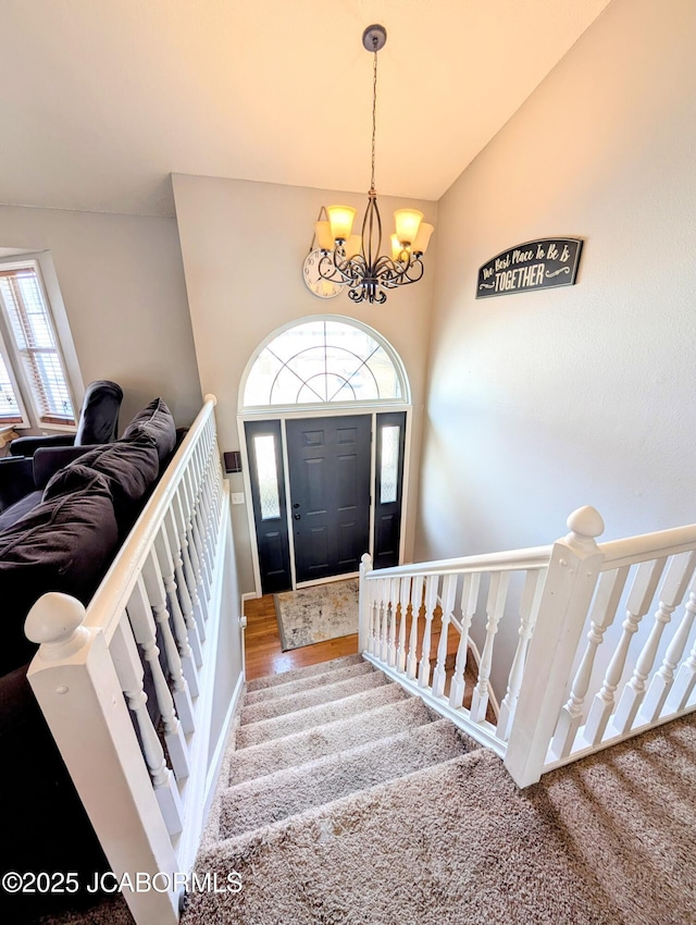
[[[105,478],[119,529],[124,536],[140,511],[145,493],[159,474],[160,464],[152,437],[138,433],[130,440],[110,443],[83,454],[49,480],[44,499],[70,491],[74,484],[74,472],[85,468]]]

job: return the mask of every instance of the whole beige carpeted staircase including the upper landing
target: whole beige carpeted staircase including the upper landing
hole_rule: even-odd
[[[696,923],[696,725],[519,791],[360,656],[251,681],[182,925]]]

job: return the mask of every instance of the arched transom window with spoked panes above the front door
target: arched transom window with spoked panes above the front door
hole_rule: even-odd
[[[302,321],[259,351],[244,408],[349,403],[408,403],[401,362],[376,332],[353,321]]]

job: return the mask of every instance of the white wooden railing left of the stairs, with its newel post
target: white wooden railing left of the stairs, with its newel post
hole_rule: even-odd
[[[214,404],[206,397],[87,609],[51,593],[26,620],[40,643],[29,682],[116,878],[159,878],[124,890],[137,925],[178,921],[244,684],[243,667],[216,670],[223,633],[231,664],[243,661]]]

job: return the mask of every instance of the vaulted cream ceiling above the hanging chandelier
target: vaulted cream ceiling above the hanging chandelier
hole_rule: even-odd
[[[173,214],[169,174],[437,199],[609,0],[0,0],[0,202]],[[572,103],[571,103],[572,104]]]

